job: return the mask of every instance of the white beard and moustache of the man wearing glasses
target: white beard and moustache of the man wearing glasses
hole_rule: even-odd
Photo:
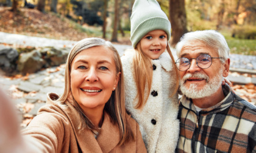
[[[196,78],[203,78],[206,80],[206,84],[202,89],[197,89],[198,84],[190,84],[189,89],[185,86],[185,81],[188,78],[196,77]],[[182,80],[180,80],[180,90],[182,91],[182,94],[186,95],[188,98],[197,99],[197,98],[204,98],[209,97],[210,95],[217,92],[219,87],[221,87],[222,83],[222,69],[219,70],[219,72],[216,74],[215,77],[212,78],[212,80],[209,80],[209,77],[203,73],[187,73],[184,75]]]

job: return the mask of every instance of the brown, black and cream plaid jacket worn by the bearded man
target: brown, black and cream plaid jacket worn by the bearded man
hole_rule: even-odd
[[[256,152],[256,107],[222,86],[226,98],[197,115],[190,98],[180,99],[177,152]]]

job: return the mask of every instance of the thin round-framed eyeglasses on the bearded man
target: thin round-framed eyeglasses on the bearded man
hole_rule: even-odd
[[[208,54],[202,54],[197,56],[197,58],[179,58],[178,60],[176,60],[175,64],[178,70],[185,71],[190,68],[190,61],[193,59],[196,59],[196,64],[198,67],[200,67],[201,69],[207,69],[212,65],[213,58]]]

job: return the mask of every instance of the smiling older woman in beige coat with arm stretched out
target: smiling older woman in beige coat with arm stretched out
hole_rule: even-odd
[[[66,61],[65,92],[48,94],[24,136],[13,134],[17,143],[9,151],[146,152],[137,122],[126,113],[122,71],[110,42],[79,41]],[[0,149],[7,147],[0,141]]]

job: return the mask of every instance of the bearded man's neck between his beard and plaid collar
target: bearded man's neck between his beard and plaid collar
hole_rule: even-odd
[[[204,97],[204,98],[198,98],[198,99],[193,99],[193,104],[196,105],[197,107],[200,108],[208,108],[215,106],[215,104],[218,104],[222,100],[224,100],[225,95],[222,91],[222,87],[219,87],[217,92],[215,94],[210,95],[209,97]]]

